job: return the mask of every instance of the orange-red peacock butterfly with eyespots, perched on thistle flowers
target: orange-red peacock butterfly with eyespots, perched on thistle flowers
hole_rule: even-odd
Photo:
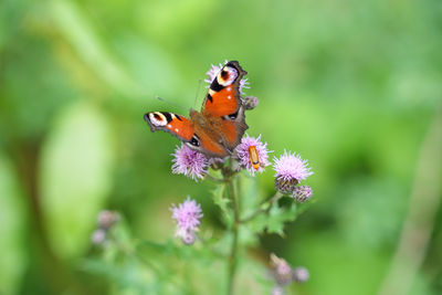
[[[189,118],[168,112],[150,112],[144,119],[152,133],[170,133],[209,158],[230,156],[249,128],[240,95],[240,82],[246,74],[236,61],[228,62],[211,82],[200,112],[190,109]]]

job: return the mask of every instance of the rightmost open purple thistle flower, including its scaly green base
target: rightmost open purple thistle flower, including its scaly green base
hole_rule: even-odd
[[[292,154],[284,150],[284,155],[280,158],[274,158],[275,164],[273,168],[275,169],[275,186],[276,189],[284,193],[292,193],[295,186],[301,182],[301,180],[306,179],[313,172],[311,168],[307,167],[307,160],[303,160],[296,152]]]

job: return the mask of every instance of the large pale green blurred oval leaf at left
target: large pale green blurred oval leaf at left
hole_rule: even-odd
[[[42,150],[42,203],[53,249],[63,257],[84,253],[112,186],[113,140],[92,105],[69,107]]]

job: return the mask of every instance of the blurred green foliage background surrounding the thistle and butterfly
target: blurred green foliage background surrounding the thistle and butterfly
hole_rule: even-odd
[[[161,242],[170,203],[190,194],[204,226],[220,226],[212,185],[171,175],[178,140],[143,115],[199,108],[199,81],[227,59],[260,98],[248,133],[315,171],[316,202],[285,239],[261,239],[311,271],[291,292],[377,294],[396,280],[404,294],[442,294],[436,0],[2,0],[0,294],[104,292],[78,264],[105,208]],[[257,181],[273,192],[272,169]],[[415,249],[398,259],[413,275],[391,273],[415,219]]]

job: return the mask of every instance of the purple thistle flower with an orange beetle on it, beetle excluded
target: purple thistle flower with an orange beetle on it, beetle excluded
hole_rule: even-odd
[[[251,149],[250,147],[254,147],[257,154],[257,169],[256,165],[255,167],[253,167],[254,165],[252,165],[252,160],[251,160]],[[269,161],[269,151],[267,150],[267,143],[263,144],[261,141],[261,135],[257,138],[251,137],[249,135],[245,135],[242,139],[241,139],[241,144],[239,144],[235,148],[235,155],[236,158],[239,160],[240,167],[245,168],[249,170],[249,172],[251,175],[254,176],[254,173],[256,171],[262,172],[264,171],[264,168],[266,166],[270,165]]]

